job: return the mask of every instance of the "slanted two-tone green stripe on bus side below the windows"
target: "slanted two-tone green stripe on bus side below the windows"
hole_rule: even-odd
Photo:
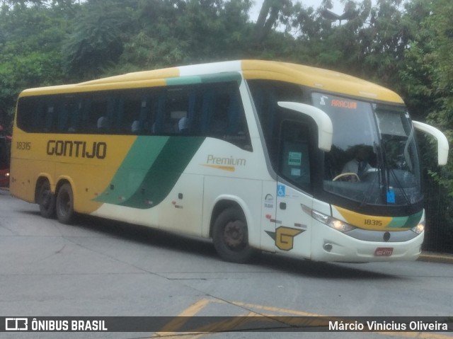
[[[205,137],[138,137],[109,187],[96,201],[139,209],[159,205],[204,140]]]

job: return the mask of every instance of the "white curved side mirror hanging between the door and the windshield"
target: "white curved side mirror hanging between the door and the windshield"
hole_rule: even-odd
[[[278,105],[288,110],[295,110],[296,112],[308,115],[313,118],[318,126],[318,147],[322,151],[330,151],[332,147],[332,120],[331,118],[319,108],[305,103],[290,103],[287,101],[279,101]]]

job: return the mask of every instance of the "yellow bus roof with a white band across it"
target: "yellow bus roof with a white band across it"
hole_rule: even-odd
[[[114,88],[139,88],[144,86],[166,86],[168,79],[184,76],[203,76],[224,72],[241,72],[244,79],[268,79],[287,81],[314,88],[314,90],[343,93],[372,100],[403,103],[398,94],[369,81],[337,71],[263,60],[236,60],[213,62],[182,67],[137,71],[118,76],[85,81],[80,84],[30,88],[21,96],[36,96],[55,93],[76,93],[81,91],[103,91]],[[195,80],[194,80],[195,81]],[[187,83],[187,82],[185,82]],[[173,82],[174,84],[174,82]]]

